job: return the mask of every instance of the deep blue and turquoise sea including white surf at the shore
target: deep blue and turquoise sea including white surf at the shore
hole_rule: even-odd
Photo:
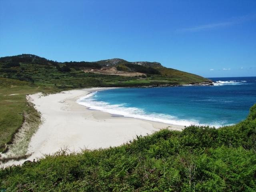
[[[118,88],[78,102],[91,109],[176,125],[236,124],[256,103],[256,77],[209,78],[214,86]]]

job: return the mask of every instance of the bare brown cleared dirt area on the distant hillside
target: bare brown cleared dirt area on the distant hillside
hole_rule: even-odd
[[[99,74],[107,74],[107,75],[119,75],[126,77],[134,77],[134,76],[142,76],[144,73],[139,72],[126,72],[126,71],[118,71],[115,67],[102,67],[101,69],[82,69],[82,71],[86,73],[99,73]]]

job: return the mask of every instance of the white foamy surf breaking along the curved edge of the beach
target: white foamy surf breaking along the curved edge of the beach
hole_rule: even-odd
[[[172,125],[180,125],[180,126],[190,126],[190,125],[203,125],[199,124],[196,120],[180,120],[176,116],[171,116],[167,114],[158,114],[158,113],[146,113],[143,109],[136,107],[126,107],[125,104],[109,104],[107,102],[96,101],[95,94],[96,92],[92,92],[80,99],[76,102],[80,105],[86,106],[89,109],[100,110],[103,112],[108,112],[110,114],[121,115],[124,117],[132,117],[143,120],[149,120],[154,122],[162,122],[166,124]],[[214,122],[213,124],[204,124],[206,126],[215,126],[221,127],[222,125],[218,124],[218,122]]]

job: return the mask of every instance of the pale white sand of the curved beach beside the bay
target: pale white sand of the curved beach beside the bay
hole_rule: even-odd
[[[82,96],[97,90],[110,88],[86,88],[64,91],[42,96],[41,93],[29,96],[30,102],[41,113],[43,123],[32,136],[26,160],[53,154],[61,148],[71,151],[82,149],[108,148],[119,146],[136,135],[147,135],[162,128],[182,130],[183,126],[152,122],[136,118],[117,117],[106,112],[88,110],[76,102]],[[26,160],[9,161],[4,166],[20,164]]]

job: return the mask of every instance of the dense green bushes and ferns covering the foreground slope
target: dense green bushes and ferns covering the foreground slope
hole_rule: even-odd
[[[256,105],[219,129],[161,130],[119,147],[62,150],[0,171],[7,191],[256,191]]]

